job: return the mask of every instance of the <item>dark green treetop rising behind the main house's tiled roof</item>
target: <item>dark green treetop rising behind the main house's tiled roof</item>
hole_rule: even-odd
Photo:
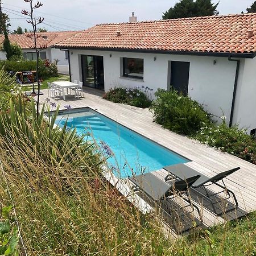
[[[216,10],[218,3],[214,5],[212,0],[180,0],[174,7],[163,13],[163,19],[189,18],[198,16],[218,15]]]

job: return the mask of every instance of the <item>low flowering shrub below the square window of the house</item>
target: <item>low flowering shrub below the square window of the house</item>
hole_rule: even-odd
[[[138,108],[148,108],[152,104],[152,89],[140,88],[114,88],[103,96],[108,101],[115,103],[137,106]]]

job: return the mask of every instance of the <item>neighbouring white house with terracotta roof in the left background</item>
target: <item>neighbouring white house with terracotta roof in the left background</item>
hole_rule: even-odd
[[[40,58],[42,60],[48,59],[51,62],[58,60],[58,70],[60,73],[68,74],[69,73],[69,64],[68,64],[68,52],[60,51],[60,49],[54,48],[54,44],[59,43],[65,39],[70,38],[71,36],[77,34],[78,31],[60,31],[60,32],[38,32],[37,44],[40,51]],[[25,33],[22,35],[11,34],[9,35],[9,40],[11,43],[16,43],[23,51],[24,59],[36,60],[36,52],[34,48],[34,38],[28,37],[31,33]],[[3,42],[4,37],[1,36],[0,40]],[[6,60],[6,53],[0,52],[0,59]]]

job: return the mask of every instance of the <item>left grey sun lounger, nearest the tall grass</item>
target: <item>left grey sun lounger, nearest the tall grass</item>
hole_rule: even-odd
[[[141,191],[142,193],[145,193],[150,200],[161,206],[162,201],[174,199],[176,196],[181,196],[183,193],[187,193],[188,188],[191,187],[199,177],[200,175],[196,175],[189,177],[186,180],[173,180],[171,183],[167,183],[166,181],[156,177],[154,174],[148,172],[146,174],[129,177],[129,180],[134,184],[134,191]],[[189,199],[189,195],[187,194],[186,197],[181,197],[188,203],[185,207],[190,206],[192,212],[195,208],[200,216],[201,213],[199,208],[192,204]],[[185,207],[180,207],[179,209],[183,209]]]

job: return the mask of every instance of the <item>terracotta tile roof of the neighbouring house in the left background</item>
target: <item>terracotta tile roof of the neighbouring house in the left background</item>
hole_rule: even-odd
[[[60,31],[60,32],[40,32],[36,33],[38,36],[37,44],[39,48],[44,46],[51,47],[54,44],[57,44],[73,35],[76,35],[81,31]],[[31,34],[31,33],[27,33]],[[3,42],[3,35],[0,36],[0,42]],[[18,44],[22,49],[31,49],[34,48],[34,38],[28,38],[26,34],[18,35],[12,34],[9,35],[9,40],[11,43]]]

